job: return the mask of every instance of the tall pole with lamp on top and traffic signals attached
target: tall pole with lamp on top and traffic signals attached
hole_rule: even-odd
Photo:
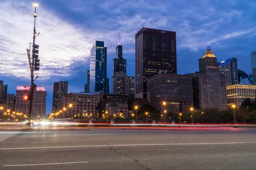
[[[33,17],[36,18],[37,17],[36,8],[38,7],[38,3],[33,3],[33,6],[35,7],[35,13],[33,14]],[[29,66],[30,66],[30,71],[31,71],[31,84],[30,84],[30,91],[29,91],[30,100],[29,100],[29,115],[28,115],[29,122],[28,122],[28,125],[31,125],[32,101],[33,101],[33,94],[34,94],[34,88],[35,88],[35,85],[34,85],[34,63],[35,63],[35,56],[36,55],[38,56],[38,54],[36,54],[35,51],[36,51],[36,48],[39,48],[39,45],[35,45],[35,37],[37,35],[38,34],[35,31],[35,19],[34,19],[32,62],[30,62],[30,58],[29,58]],[[38,57],[36,57],[36,59],[37,58]],[[39,70],[39,68],[37,70]]]

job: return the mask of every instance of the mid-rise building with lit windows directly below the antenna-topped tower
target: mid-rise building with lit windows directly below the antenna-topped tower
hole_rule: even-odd
[[[116,73],[113,77],[113,94],[134,94],[134,77]]]

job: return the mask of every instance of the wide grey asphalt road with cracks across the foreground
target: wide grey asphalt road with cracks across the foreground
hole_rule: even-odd
[[[0,170],[255,170],[256,130],[0,130]]]

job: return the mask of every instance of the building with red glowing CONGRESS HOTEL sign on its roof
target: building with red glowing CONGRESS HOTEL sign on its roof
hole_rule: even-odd
[[[15,112],[29,114],[29,100],[24,100],[24,95],[29,94],[28,86],[18,86],[16,91],[15,100]],[[44,118],[46,113],[46,96],[47,92],[44,87],[38,87],[38,90],[34,91],[33,102],[32,102],[32,119],[37,119],[37,117]]]

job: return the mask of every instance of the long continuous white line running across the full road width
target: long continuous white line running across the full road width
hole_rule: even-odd
[[[222,143],[172,143],[172,144],[110,144],[110,145],[85,145],[85,146],[52,146],[52,147],[14,147],[0,148],[0,150],[17,149],[52,149],[52,148],[74,148],[74,147],[115,147],[115,146],[163,146],[163,145],[210,145],[210,144],[256,144],[256,142],[222,142]]]

